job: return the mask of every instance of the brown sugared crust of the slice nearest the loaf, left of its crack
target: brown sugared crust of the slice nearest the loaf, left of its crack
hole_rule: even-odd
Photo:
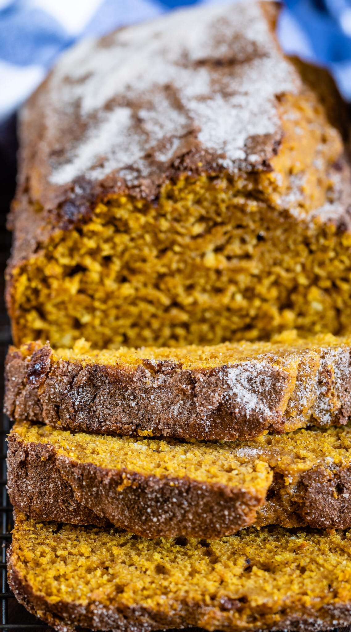
[[[251,439],[284,429],[281,408],[291,378],[268,363],[247,363],[244,379],[261,399],[247,410],[240,396],[229,394],[226,366],[183,370],[175,362],[154,366],[144,360],[135,369],[82,367],[52,362],[49,344],[33,343],[30,350],[29,362],[15,348],[6,360],[4,410],[15,420],[101,434],[146,431],[208,440]]]

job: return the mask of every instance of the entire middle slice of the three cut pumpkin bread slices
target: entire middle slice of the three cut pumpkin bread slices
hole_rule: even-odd
[[[16,423],[11,502],[36,520],[157,538],[220,538],[247,525],[351,526],[351,427],[251,442],[182,443]]]

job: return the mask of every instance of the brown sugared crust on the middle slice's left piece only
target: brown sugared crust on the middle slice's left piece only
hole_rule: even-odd
[[[8,440],[8,492],[35,520],[110,522],[146,538],[230,535],[251,525],[265,500],[264,491],[77,463],[15,432]]]

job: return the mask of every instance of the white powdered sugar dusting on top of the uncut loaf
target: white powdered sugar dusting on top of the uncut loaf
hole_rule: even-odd
[[[73,112],[82,130],[52,157],[51,182],[113,171],[133,185],[188,150],[190,137],[229,171],[242,161],[249,169],[258,155],[246,153],[247,139],[279,132],[275,95],[299,82],[252,0],[176,11],[85,41],[47,85],[47,135]]]

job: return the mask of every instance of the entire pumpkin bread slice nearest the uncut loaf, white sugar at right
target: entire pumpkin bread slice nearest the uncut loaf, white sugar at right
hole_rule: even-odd
[[[346,423],[351,339],[293,334],[177,349],[12,347],[5,411],[62,429],[208,440]]]

